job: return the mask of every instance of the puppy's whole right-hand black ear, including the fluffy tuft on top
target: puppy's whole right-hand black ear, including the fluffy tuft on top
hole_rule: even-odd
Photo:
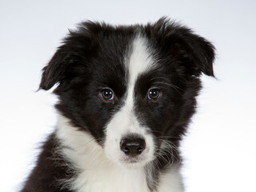
[[[214,77],[214,46],[205,38],[166,18],[160,18],[155,23],[154,30],[160,36],[164,49],[174,59],[186,62],[184,64],[196,75],[203,73]]]

